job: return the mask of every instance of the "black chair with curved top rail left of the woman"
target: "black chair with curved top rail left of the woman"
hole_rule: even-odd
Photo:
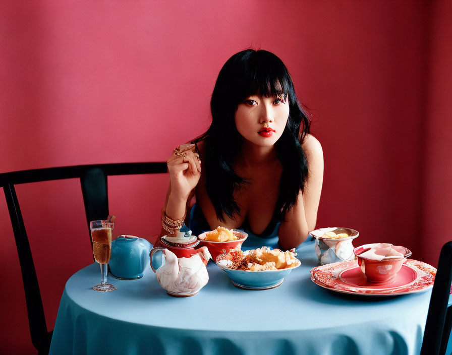
[[[88,235],[92,248],[89,221],[104,219],[108,215],[107,176],[165,173],[166,171],[165,162],[148,162],[78,165],[0,174],[0,187],[3,187],[5,192],[19,254],[31,341],[39,354],[48,354],[53,330],[47,331],[36,270],[14,186],[25,183],[80,178],[88,222]]]

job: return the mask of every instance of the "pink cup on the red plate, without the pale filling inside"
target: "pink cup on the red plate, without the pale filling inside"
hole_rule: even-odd
[[[358,259],[358,265],[361,267],[368,281],[390,283],[396,279],[396,275],[402,268],[403,263],[411,255],[411,252],[407,248],[403,247],[403,249],[405,249],[403,257],[383,259],[381,261],[361,257],[360,254],[368,250],[364,249],[363,246],[355,248],[353,252]]]

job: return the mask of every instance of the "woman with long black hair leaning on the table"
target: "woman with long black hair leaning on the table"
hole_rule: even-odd
[[[210,106],[212,124],[196,146],[178,147],[168,159],[162,235],[183,224],[195,195],[195,235],[221,225],[278,235],[283,250],[298,247],[315,227],[323,153],[286,66],[266,50],[233,55]]]

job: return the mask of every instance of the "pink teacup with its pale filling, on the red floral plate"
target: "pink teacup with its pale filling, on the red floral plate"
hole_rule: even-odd
[[[389,243],[365,244],[353,251],[358,265],[370,282],[393,282],[411,252]],[[363,255],[364,254],[364,255]]]

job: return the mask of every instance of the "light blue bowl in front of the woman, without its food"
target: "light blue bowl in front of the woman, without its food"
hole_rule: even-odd
[[[231,278],[232,283],[245,289],[269,289],[279,286],[283,283],[284,278],[287,277],[292,269],[295,269],[301,265],[301,262],[297,266],[281,269],[281,270],[266,270],[266,271],[244,271],[235,270],[225,266],[221,263],[226,254],[221,254],[216,258],[216,264],[218,267],[226,272]]]

